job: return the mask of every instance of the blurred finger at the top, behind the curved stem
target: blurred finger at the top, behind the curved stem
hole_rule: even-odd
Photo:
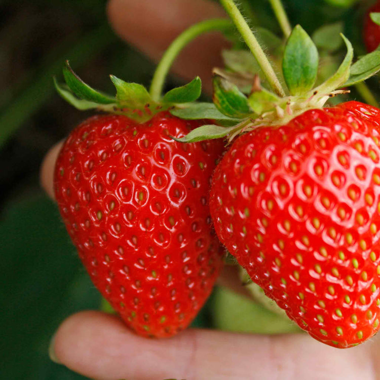
[[[111,0],[108,17],[123,39],[158,61],[188,26],[208,18],[225,17],[225,13],[208,0]],[[186,79],[199,75],[204,87],[210,89],[211,70],[221,66],[220,51],[227,46],[218,32],[202,35],[184,49],[173,71]]]

